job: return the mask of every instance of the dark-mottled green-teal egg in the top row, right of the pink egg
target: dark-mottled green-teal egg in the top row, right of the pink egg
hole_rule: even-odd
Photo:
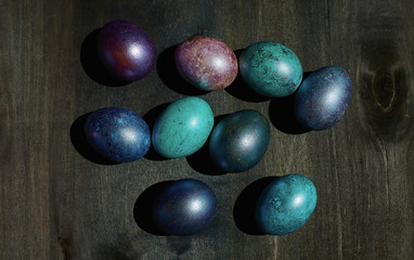
[[[302,80],[302,66],[287,47],[273,42],[253,43],[238,60],[243,80],[259,94],[269,98],[290,95]]]

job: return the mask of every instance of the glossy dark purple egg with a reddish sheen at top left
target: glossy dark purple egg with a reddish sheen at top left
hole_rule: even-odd
[[[126,82],[146,77],[156,61],[150,35],[137,24],[122,20],[103,26],[98,37],[98,53],[104,67]]]

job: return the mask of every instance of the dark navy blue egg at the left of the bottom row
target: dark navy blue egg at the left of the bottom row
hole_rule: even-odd
[[[154,223],[169,235],[195,234],[212,221],[217,199],[207,184],[183,179],[168,184],[153,207]]]

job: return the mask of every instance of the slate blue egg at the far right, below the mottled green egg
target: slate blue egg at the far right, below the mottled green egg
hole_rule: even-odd
[[[310,130],[333,127],[345,115],[351,101],[352,84],[348,73],[326,66],[303,79],[295,96],[298,121]]]

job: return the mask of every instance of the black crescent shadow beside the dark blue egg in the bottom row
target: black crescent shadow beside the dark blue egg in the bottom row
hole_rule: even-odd
[[[153,207],[156,197],[172,181],[158,182],[147,187],[138,197],[133,207],[133,219],[135,220],[138,226],[140,226],[143,231],[153,235],[167,235],[156,226],[153,218]]]

